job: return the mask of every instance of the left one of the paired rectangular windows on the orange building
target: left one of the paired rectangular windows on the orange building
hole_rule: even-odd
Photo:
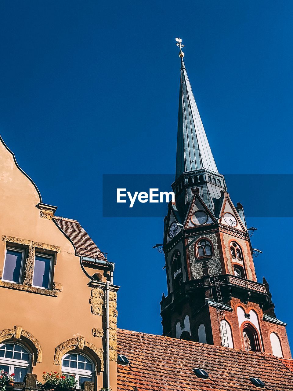
[[[24,250],[8,247],[5,251],[2,281],[21,283],[23,260]]]

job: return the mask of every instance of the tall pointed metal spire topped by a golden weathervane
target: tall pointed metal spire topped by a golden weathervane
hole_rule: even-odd
[[[182,39],[176,38],[180,48],[181,77],[179,92],[176,179],[183,172],[207,169],[218,172],[214,157],[207,141],[204,126],[191,90],[183,62]]]

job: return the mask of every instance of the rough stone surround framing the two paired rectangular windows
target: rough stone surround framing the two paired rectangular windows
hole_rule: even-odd
[[[53,281],[53,289],[37,288],[32,286],[32,276],[34,271],[34,259],[36,255],[36,250],[37,252],[38,250],[41,252],[45,250],[47,254],[53,255],[52,276],[54,278],[54,265],[56,263],[56,254],[60,253],[61,248],[52,244],[34,242],[32,240],[20,239],[6,235],[2,236],[2,240],[6,244],[5,249],[10,246],[16,247],[15,245],[19,246],[20,249],[26,249],[27,258],[25,258],[23,266],[23,283],[18,284],[14,282],[2,281],[2,275],[0,275],[0,287],[16,289],[18,291],[27,291],[37,294],[43,294],[45,296],[57,297],[58,292],[61,292],[63,289],[63,285],[61,283]]]

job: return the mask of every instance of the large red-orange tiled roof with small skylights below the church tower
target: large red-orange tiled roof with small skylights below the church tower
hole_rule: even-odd
[[[118,354],[130,361],[118,364],[118,391],[259,390],[250,377],[260,378],[265,389],[293,390],[293,373],[283,360],[264,353],[118,329]],[[209,378],[198,378],[194,368]]]

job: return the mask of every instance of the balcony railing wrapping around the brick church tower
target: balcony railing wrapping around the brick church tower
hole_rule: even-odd
[[[266,285],[259,282],[246,280],[245,278],[236,277],[232,274],[222,274],[218,276],[220,286],[232,285],[235,287],[243,288],[248,291],[259,292],[261,294],[269,294],[266,289]],[[213,276],[205,276],[204,278],[198,278],[197,280],[191,280],[183,282],[178,289],[171,292],[161,301],[161,310],[163,311],[174,300],[179,298],[182,294],[195,291],[200,288],[209,288],[215,286],[215,281]]]

